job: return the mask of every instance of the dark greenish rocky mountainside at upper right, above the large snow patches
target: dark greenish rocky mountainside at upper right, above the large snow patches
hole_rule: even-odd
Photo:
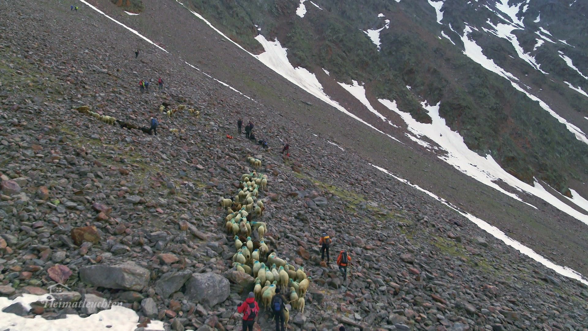
[[[352,84],[352,80],[365,82],[374,100],[396,100],[400,110],[410,112],[418,121],[430,123],[421,101],[440,102],[440,114],[471,150],[492,155],[505,170],[526,183],[532,184],[533,177],[541,178],[569,194],[569,180],[586,176],[586,144],[505,78],[462,54],[461,40],[466,35],[476,41],[486,57],[586,131],[583,117],[588,97],[564,82],[588,90],[587,81],[566,65],[559,53],[563,51],[578,68],[588,68],[583,57],[586,42],[581,37],[586,29],[582,5],[506,0],[467,4],[425,0],[191,0],[186,5],[249,51],[259,51],[254,39],[258,34],[268,40],[278,38],[288,48],[294,67],[308,68],[316,75],[320,68],[326,68],[330,79],[346,84]],[[440,22],[434,6],[440,8]],[[515,20],[520,19],[520,23],[511,22],[513,19],[500,11],[519,7]],[[534,22],[537,16],[540,21]],[[511,25],[513,28],[508,29]],[[466,34],[466,27],[472,27],[472,32]],[[540,28],[567,42],[543,32],[553,41],[540,38],[535,33]],[[379,46],[370,40],[368,32],[378,36]],[[543,45],[534,47],[537,40]],[[521,55],[513,47],[515,42]],[[535,59],[549,75],[533,67],[531,61]],[[334,98],[340,102],[343,99],[340,95]]]

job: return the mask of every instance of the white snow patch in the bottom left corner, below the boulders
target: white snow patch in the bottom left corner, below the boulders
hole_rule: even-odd
[[[2,309],[13,303],[21,303],[27,309],[31,303],[46,300],[47,295],[36,296],[22,294],[14,300],[0,297],[0,330],[11,331],[133,331],[139,324],[139,315],[132,309],[113,305],[110,309],[101,310],[98,313],[82,318],[78,315],[66,315],[64,319],[46,320],[41,316],[29,319],[12,313],[3,313]],[[165,330],[163,322],[151,321],[146,330]]]

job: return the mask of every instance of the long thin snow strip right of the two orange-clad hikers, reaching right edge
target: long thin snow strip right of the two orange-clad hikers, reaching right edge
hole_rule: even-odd
[[[370,163],[370,166],[376,168],[377,170],[382,171],[383,173],[388,174],[389,176],[392,176],[393,178],[396,178],[396,180],[401,181],[402,183],[405,183],[409,186],[416,188],[419,191],[422,191],[423,193],[427,194],[428,196],[434,198],[435,200],[440,201],[441,203],[445,204],[445,206],[452,208],[453,210],[457,211],[457,213],[462,214],[462,216],[464,216],[467,219],[469,219],[470,221],[472,221],[472,223],[476,224],[476,226],[478,226],[480,229],[486,231],[491,236],[495,237],[496,239],[501,240],[503,243],[507,244],[510,247],[513,247],[517,251],[520,251],[520,253],[530,257],[531,259],[535,260],[536,262],[543,264],[543,266],[546,266],[547,268],[552,269],[554,272],[559,273],[562,276],[566,276],[568,278],[575,279],[575,280],[579,281],[580,283],[588,285],[588,280],[581,273],[576,272],[576,270],[573,270],[570,267],[559,266],[558,264],[555,264],[555,263],[551,262],[550,260],[547,260],[542,255],[537,254],[536,251],[534,251],[533,249],[530,249],[529,247],[524,246],[522,243],[519,243],[519,241],[516,241],[516,240],[512,239],[511,237],[507,236],[506,233],[504,233],[502,230],[498,229],[497,227],[490,225],[486,221],[479,219],[476,216],[473,216],[472,214],[466,213],[465,211],[460,211],[457,207],[454,207],[452,203],[445,200],[444,198],[438,197],[436,194],[429,192],[429,191],[425,190],[424,188],[421,188],[415,184],[410,183],[410,181],[407,181],[403,178],[395,176],[394,174],[387,171],[385,168],[375,166],[374,164],[371,164],[371,163]]]

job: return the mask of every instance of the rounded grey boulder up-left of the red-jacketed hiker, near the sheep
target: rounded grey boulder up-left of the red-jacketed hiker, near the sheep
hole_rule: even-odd
[[[230,294],[229,281],[216,273],[193,273],[186,283],[188,300],[215,306],[226,300]]]

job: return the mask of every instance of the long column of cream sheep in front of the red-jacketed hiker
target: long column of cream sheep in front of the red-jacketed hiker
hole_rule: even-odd
[[[248,157],[249,164],[257,169],[261,168],[261,161]],[[258,200],[259,191],[265,190],[268,177],[256,173],[242,174],[238,193],[232,198],[221,198],[219,203],[226,208],[225,227],[229,235],[234,236],[236,253],[233,255],[233,267],[236,270],[255,277],[253,293],[258,302],[262,302],[266,309],[280,287],[280,292],[288,297],[286,290],[290,288],[290,301],[294,309],[304,313],[306,291],[310,284],[310,277],[304,269],[295,269],[285,260],[280,259],[275,251],[268,250],[263,235],[268,231],[266,223],[252,221],[253,216],[262,216],[263,201]],[[253,237],[253,239],[252,239]],[[285,309],[286,328],[290,313]]]

